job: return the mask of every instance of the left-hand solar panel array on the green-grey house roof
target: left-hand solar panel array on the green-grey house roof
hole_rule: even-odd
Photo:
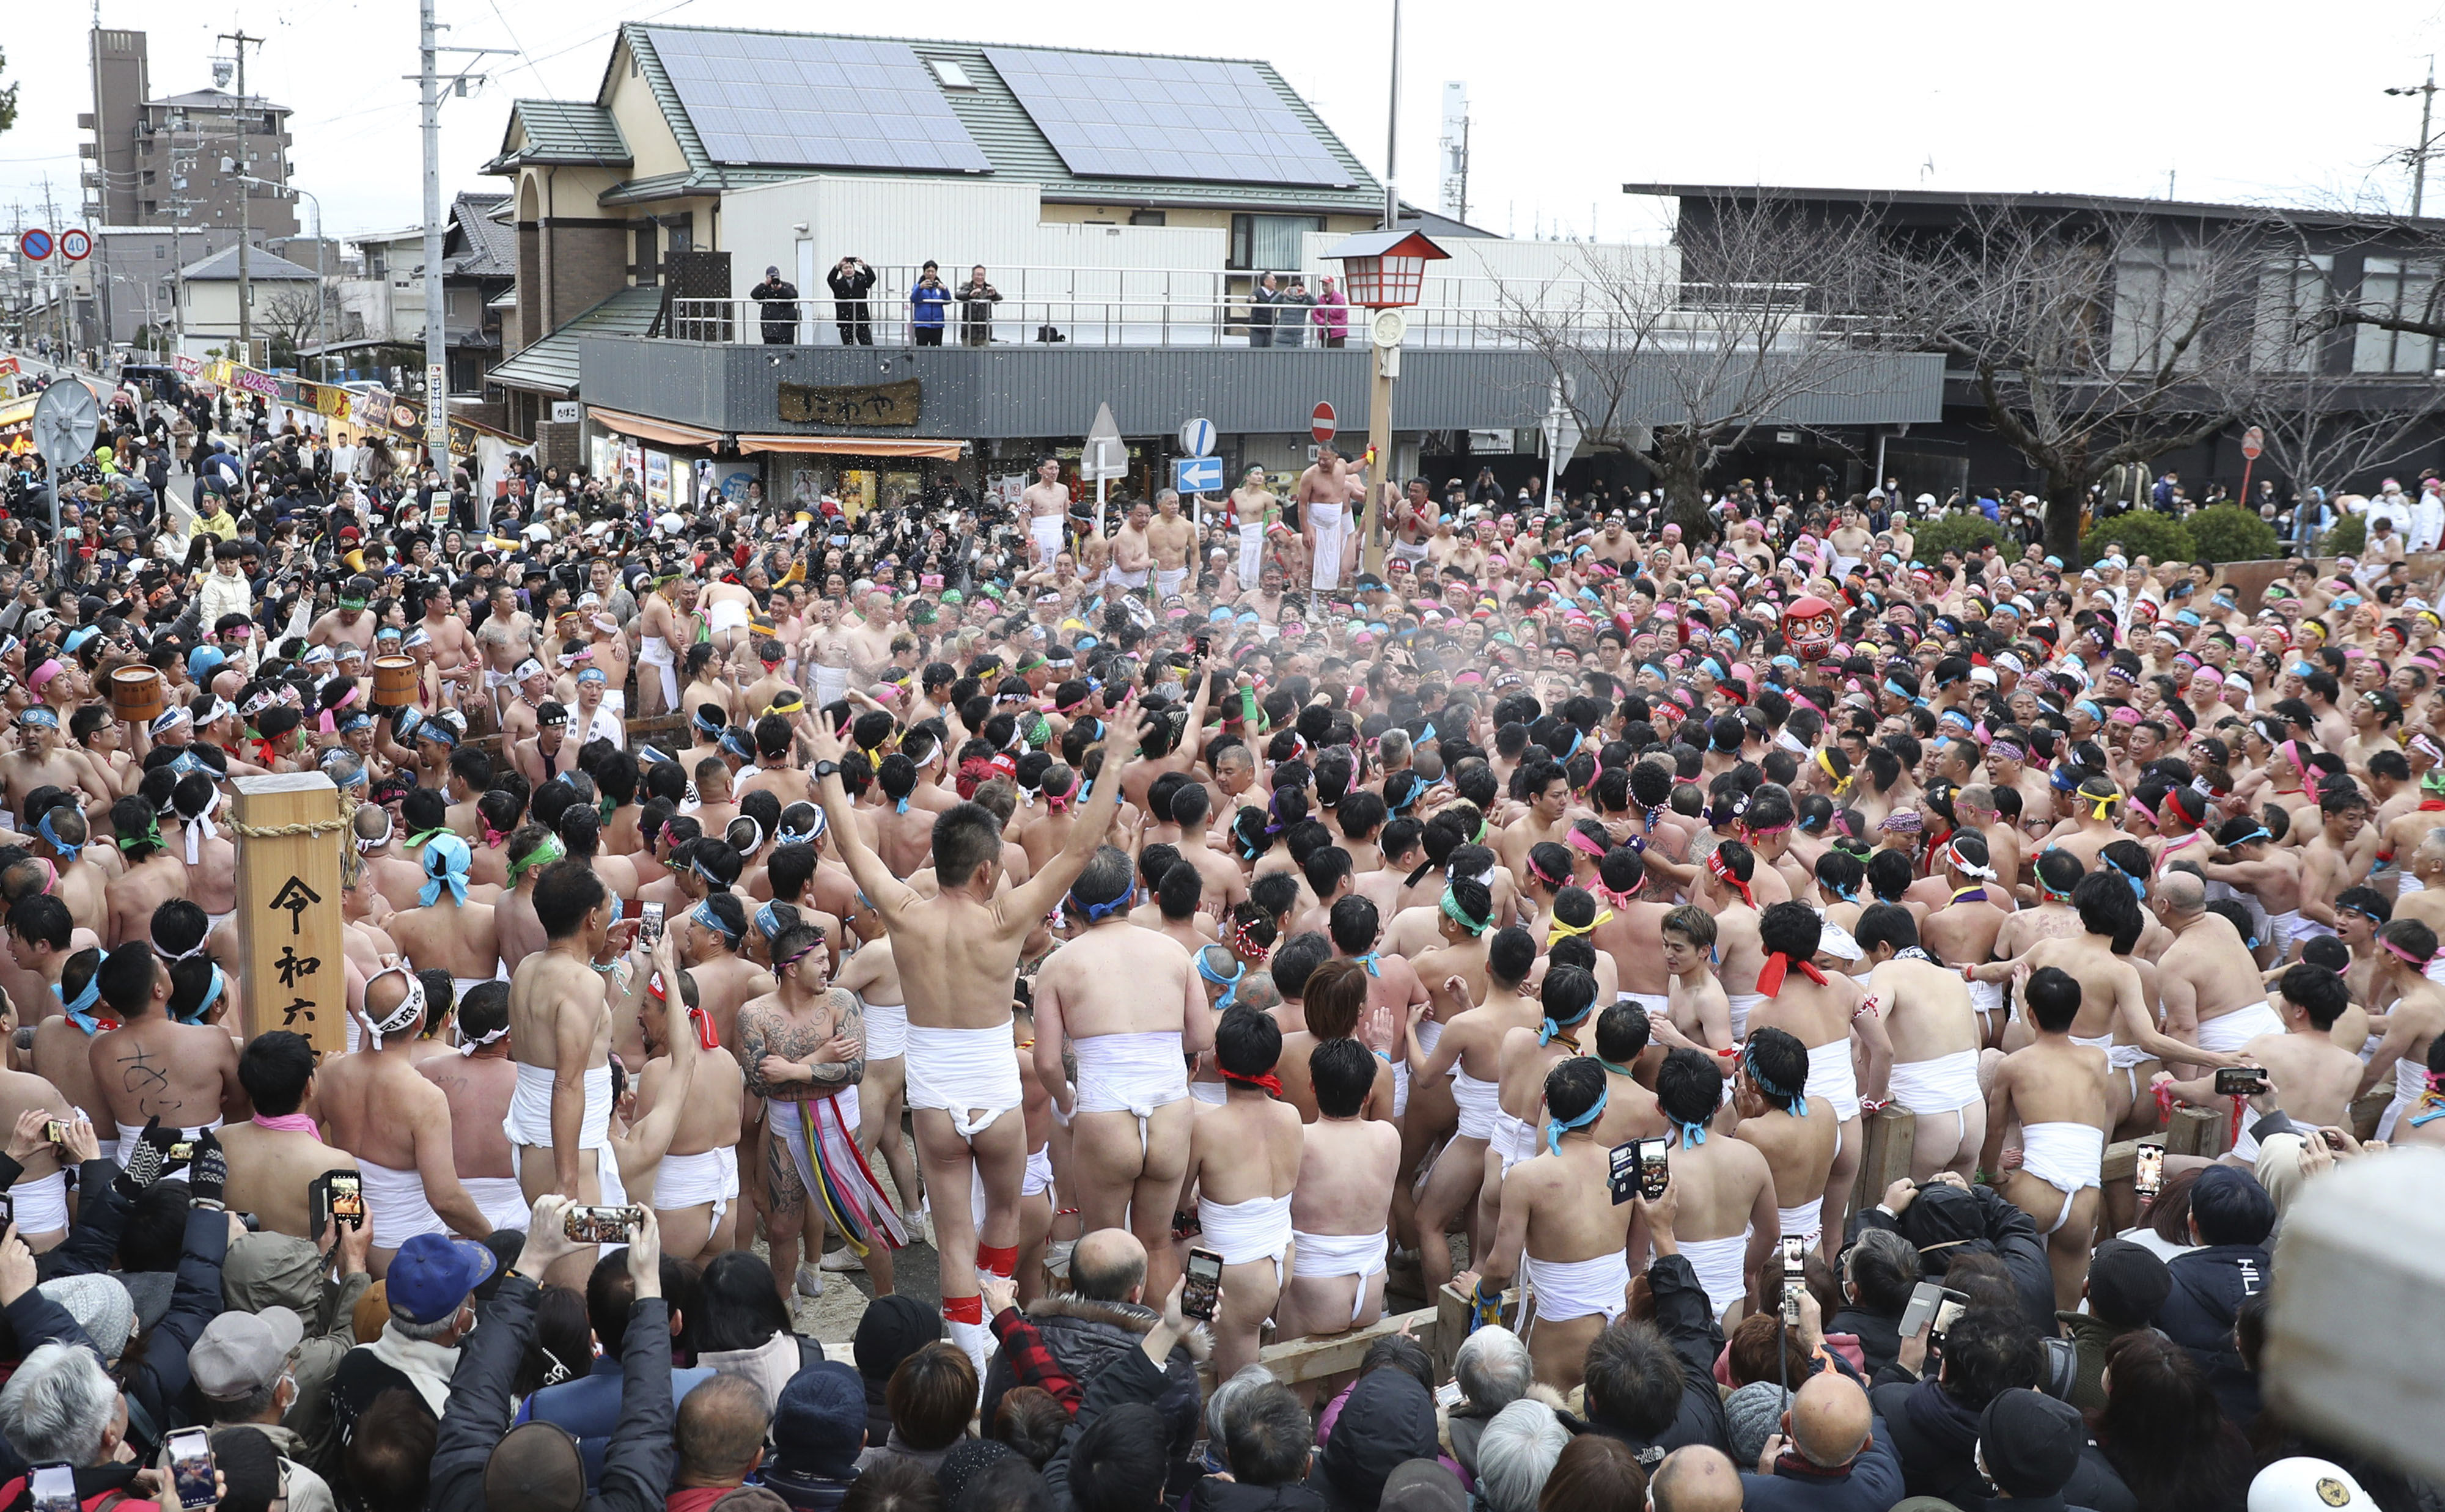
[[[990,174],[902,42],[648,27],[714,161]]]

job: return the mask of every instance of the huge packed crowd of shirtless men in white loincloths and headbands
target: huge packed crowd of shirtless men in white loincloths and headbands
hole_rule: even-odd
[[[1885,1101],[1914,1179],[2032,1216],[2061,1306],[2132,1221],[2108,1143],[2225,1113],[2220,1067],[2315,1128],[2394,1089],[2379,1138],[2445,1143],[2445,646],[2416,599],[1912,570],[1907,528],[1848,511],[1780,550],[1619,516],[1548,550],[1548,521],[1423,489],[1386,492],[1418,553],[1386,582],[1313,509],[1337,480],[1298,484],[1325,541],[1249,521],[1252,570],[1134,617],[1108,609],[1137,558],[1073,553],[1066,514],[966,624],[702,560],[477,631],[440,595],[421,719],[325,734],[232,697],[362,675],[362,585],[276,665],[174,668],[147,724],[12,646],[0,1123],[218,1128],[230,1206],[284,1233],[357,1169],[377,1275],[545,1191],[650,1204],[680,1260],[763,1238],[782,1289],[888,1292],[932,1240],[976,1355],[980,1282],[1042,1294],[1103,1228],[1152,1297],[1220,1253],[1222,1375],[1374,1321],[1389,1282],[1521,1287],[1560,1387],[1653,1245],[1726,1319],[1785,1236],[1839,1245]],[[1778,617],[1809,590],[1846,619],[1804,663]],[[227,776],[303,768],[374,795],[320,1064],[235,1037],[262,988],[215,825]],[[1609,1196],[1633,1138],[1667,1145],[1667,1236]],[[59,1155],[12,1191],[37,1248]]]

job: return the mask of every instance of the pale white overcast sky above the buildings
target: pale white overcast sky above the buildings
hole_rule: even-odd
[[[445,42],[509,49],[477,64],[489,83],[443,110],[443,188],[504,188],[477,166],[501,142],[509,100],[592,98],[621,20],[807,27],[797,17],[814,15],[746,0],[440,0],[452,27]],[[822,15],[875,34],[1269,59],[1369,169],[1384,169],[1391,0],[934,0]],[[156,95],[210,83],[215,32],[242,24],[267,37],[247,64],[249,88],[296,110],[296,181],[323,198],[328,230],[421,220],[416,83],[401,78],[416,71],[411,0],[230,0],[220,10],[100,0],[100,17],[149,32]],[[1222,17],[1267,22],[1218,32]],[[20,115],[0,135],[7,225],[17,220],[10,203],[39,208],[44,174],[61,223],[76,218],[88,24],[86,5],[10,7],[0,46]],[[2408,208],[2408,174],[2386,157],[2418,137],[2421,103],[2381,91],[2416,86],[2440,34],[2438,0],[2359,0],[2347,12],[2064,0],[2042,17],[1895,0],[1411,0],[1399,176],[1403,198],[1433,203],[1443,81],[1460,78],[1474,117],[1469,218],[1523,237],[1650,237],[1655,208],[1623,201],[1628,181],[2164,196],[2171,176],[2181,198],[2384,196]]]

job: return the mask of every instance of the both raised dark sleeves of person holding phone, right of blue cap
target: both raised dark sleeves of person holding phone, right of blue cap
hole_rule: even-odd
[[[535,1282],[509,1277],[491,1302],[477,1304],[477,1329],[460,1343],[450,1407],[433,1441],[428,1512],[482,1512],[484,1466],[509,1431],[509,1380],[535,1338]],[[672,1451],[670,1304],[641,1297],[621,1336],[621,1424],[604,1453],[599,1492],[587,1512],[663,1512]]]

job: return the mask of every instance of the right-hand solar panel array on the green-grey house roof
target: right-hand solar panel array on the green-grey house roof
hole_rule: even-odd
[[[1071,174],[1350,186],[1350,169],[1247,64],[988,46]]]

